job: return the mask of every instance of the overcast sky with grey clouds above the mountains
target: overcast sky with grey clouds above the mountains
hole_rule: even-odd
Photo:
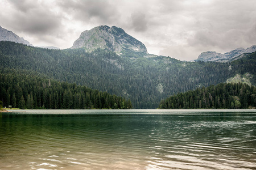
[[[256,45],[255,0],[1,0],[0,25],[34,46],[70,48],[80,33],[113,25],[151,54],[180,60]]]

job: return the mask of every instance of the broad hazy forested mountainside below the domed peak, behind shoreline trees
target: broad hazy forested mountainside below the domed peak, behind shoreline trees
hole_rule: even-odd
[[[249,55],[249,54],[248,54]],[[42,49],[0,42],[3,69],[28,70],[56,79],[130,99],[134,108],[157,108],[159,101],[178,92],[226,82],[236,74],[251,75],[256,84],[256,54],[231,62],[182,62],[155,56],[118,56],[98,49]]]

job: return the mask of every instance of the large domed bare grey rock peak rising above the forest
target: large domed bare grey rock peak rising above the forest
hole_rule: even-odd
[[[86,52],[92,52],[97,48],[107,48],[119,54],[129,50],[147,53],[146,46],[141,41],[128,35],[122,28],[115,26],[110,28],[107,25],[82,32],[71,48],[84,48]]]

